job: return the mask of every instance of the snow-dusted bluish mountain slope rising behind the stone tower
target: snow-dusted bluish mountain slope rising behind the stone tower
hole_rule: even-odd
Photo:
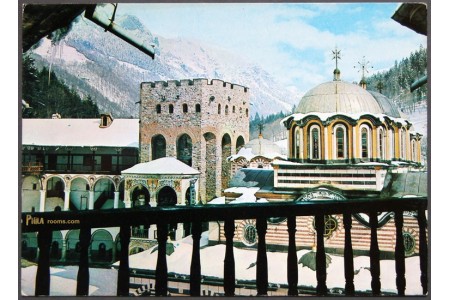
[[[154,36],[134,16],[116,19],[131,34],[156,46],[152,60],[89,20],[79,18],[57,46],[44,40],[32,50],[38,65],[52,70],[80,94],[90,94],[101,111],[137,117],[143,81],[186,78],[222,79],[250,88],[251,115],[290,111],[298,97],[255,64],[198,41]]]

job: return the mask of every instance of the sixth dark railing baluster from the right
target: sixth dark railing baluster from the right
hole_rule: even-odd
[[[287,277],[288,277],[288,296],[298,296],[298,262],[297,262],[297,247],[295,245],[296,217],[288,217],[288,261],[287,261]]]

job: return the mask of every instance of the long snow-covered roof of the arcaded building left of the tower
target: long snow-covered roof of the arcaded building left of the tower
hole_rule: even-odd
[[[98,119],[23,119],[22,144],[73,147],[139,147],[139,120],[114,119],[100,127]]]

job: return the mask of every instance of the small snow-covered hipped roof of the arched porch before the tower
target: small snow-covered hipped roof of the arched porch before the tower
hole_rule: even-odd
[[[123,170],[122,174],[197,175],[200,172],[175,157],[163,157],[134,165],[129,169]]]

